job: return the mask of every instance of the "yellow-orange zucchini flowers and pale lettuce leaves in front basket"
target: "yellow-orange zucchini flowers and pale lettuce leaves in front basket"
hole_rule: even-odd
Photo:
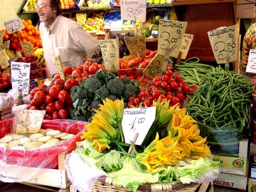
[[[77,142],[76,152],[89,167],[105,171],[115,184],[133,191],[142,184],[185,184],[217,177],[218,162],[209,158],[210,149],[196,121],[178,104],[169,107],[169,101],[158,100],[153,106],[155,121],[141,146],[132,143],[135,155],[127,153],[130,145],[124,142],[124,101],[107,98],[94,110],[92,122],[81,135],[85,140]]]

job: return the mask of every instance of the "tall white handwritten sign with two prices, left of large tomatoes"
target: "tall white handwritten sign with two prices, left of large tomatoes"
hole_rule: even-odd
[[[11,86],[28,95],[30,88],[30,63],[11,62]]]

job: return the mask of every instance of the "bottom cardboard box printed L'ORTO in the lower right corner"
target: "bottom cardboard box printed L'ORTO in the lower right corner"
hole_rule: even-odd
[[[247,177],[220,173],[219,177],[213,181],[213,184],[246,190]]]

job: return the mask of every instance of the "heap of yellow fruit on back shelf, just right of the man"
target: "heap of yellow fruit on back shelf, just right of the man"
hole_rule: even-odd
[[[98,32],[102,31],[103,28],[101,26],[101,22],[104,17],[104,11],[94,11],[86,19],[85,25],[83,25],[83,29],[88,32]]]

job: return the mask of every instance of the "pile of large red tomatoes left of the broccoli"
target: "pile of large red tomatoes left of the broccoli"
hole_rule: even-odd
[[[31,103],[26,109],[46,110],[44,117],[46,120],[68,118],[69,110],[74,108],[71,88],[86,80],[88,75],[95,74],[100,68],[101,65],[92,63],[91,60],[77,68],[66,66],[63,68],[66,80],[60,78],[60,74],[56,74],[49,86],[40,85],[38,88],[33,88],[30,92]]]

